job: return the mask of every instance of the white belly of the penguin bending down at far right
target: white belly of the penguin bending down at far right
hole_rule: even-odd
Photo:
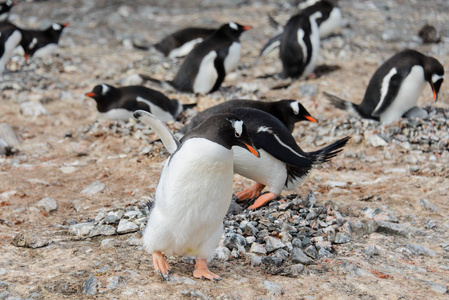
[[[425,85],[424,69],[421,66],[414,66],[402,82],[396,99],[380,115],[380,121],[391,123],[400,119],[405,112],[416,105]]]

